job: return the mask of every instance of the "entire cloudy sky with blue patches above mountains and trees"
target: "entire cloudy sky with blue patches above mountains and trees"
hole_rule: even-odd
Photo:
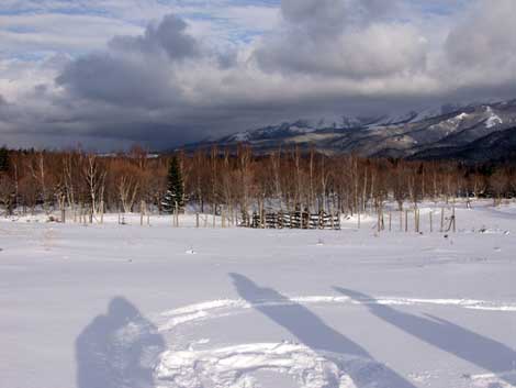
[[[0,144],[166,149],[516,98],[514,0],[1,0]]]

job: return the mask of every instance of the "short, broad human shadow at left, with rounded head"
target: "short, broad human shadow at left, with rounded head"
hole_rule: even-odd
[[[152,388],[165,340],[126,299],[111,300],[76,340],[78,388]]]

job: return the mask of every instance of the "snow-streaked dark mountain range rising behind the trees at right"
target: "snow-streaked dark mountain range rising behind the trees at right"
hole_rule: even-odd
[[[442,106],[401,115],[334,117],[296,120],[186,146],[233,148],[249,144],[258,153],[279,147],[316,148],[328,155],[440,158],[450,151],[480,146],[482,138],[516,128],[516,100]],[[504,155],[489,155],[490,158]]]

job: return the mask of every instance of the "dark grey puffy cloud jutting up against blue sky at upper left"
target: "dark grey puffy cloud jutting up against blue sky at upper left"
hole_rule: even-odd
[[[186,29],[182,20],[167,15],[143,36],[115,36],[106,52],[68,64],[56,82],[74,96],[115,106],[154,109],[176,103],[181,91],[173,63],[200,54]]]

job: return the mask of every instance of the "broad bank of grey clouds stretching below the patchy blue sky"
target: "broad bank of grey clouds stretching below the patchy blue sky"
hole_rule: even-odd
[[[479,0],[430,22],[401,20],[407,3],[283,0],[277,31],[227,49],[167,15],[139,36],[45,65],[44,74],[59,68],[55,82],[27,81],[26,93],[4,95],[9,104],[0,96],[0,133],[99,149],[167,148],[287,120],[516,96],[514,1]]]

